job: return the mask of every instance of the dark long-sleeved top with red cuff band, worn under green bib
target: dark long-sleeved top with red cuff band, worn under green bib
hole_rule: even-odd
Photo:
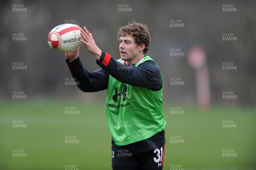
[[[83,92],[97,92],[108,88],[108,78],[111,75],[116,80],[132,86],[145,87],[152,91],[162,89],[163,81],[159,67],[154,61],[145,61],[138,66],[122,65],[106,52],[96,63],[101,67],[94,72],[88,72],[82,66],[80,58],[70,62],[66,60],[67,66],[73,78],[79,82],[77,86]],[[117,146],[112,139],[112,150],[129,149],[131,153],[141,153],[162,147],[165,144],[164,130],[143,141],[132,144]]]

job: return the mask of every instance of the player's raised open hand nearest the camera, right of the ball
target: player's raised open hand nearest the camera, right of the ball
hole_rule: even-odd
[[[95,57],[99,60],[101,54],[102,54],[102,50],[99,49],[99,47],[96,45],[94,39],[93,39],[93,35],[92,33],[90,33],[84,26],[84,30],[80,30],[80,35],[82,36],[82,38],[84,40],[80,40],[81,43],[83,43],[87,50],[92,53],[93,55],[95,55]]]

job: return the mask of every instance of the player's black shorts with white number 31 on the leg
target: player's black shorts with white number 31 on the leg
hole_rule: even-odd
[[[132,155],[129,150],[112,151],[113,170],[163,170],[164,146]]]

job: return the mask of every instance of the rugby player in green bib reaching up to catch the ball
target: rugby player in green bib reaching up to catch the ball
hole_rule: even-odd
[[[113,170],[162,170],[166,121],[162,113],[163,76],[146,55],[148,27],[129,23],[119,29],[121,58],[115,60],[96,45],[92,34],[81,30],[87,50],[101,68],[88,72],[76,52],[64,52],[66,63],[83,92],[107,89],[106,116],[112,136]]]

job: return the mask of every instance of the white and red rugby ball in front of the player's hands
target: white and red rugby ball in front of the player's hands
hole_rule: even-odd
[[[55,26],[48,35],[49,46],[60,52],[72,52],[81,45],[81,27],[75,24],[64,23]]]

